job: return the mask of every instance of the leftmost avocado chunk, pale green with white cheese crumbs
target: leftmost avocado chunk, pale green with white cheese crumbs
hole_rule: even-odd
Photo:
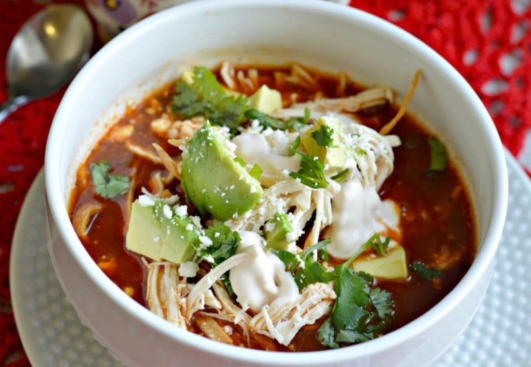
[[[159,200],[151,201],[142,206],[136,200],[131,207],[125,240],[127,250],[155,261],[164,259],[180,264],[192,260],[195,254],[192,243],[198,238],[192,220],[177,216],[169,205]]]

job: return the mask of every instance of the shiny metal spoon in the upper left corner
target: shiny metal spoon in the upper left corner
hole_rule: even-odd
[[[79,6],[50,5],[28,19],[8,50],[8,100],[0,106],[0,124],[69,82],[88,60],[92,40],[91,22]]]

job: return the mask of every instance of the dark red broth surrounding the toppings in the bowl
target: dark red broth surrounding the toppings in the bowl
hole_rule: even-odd
[[[339,88],[337,76],[311,70],[319,88],[310,91],[275,81],[274,73],[288,73],[289,68],[252,67],[259,70],[260,84],[267,84],[281,91],[284,106],[293,102],[313,100],[315,97],[353,95],[362,90],[353,82],[347,82],[346,88],[342,90]],[[246,66],[236,70],[248,68],[249,66]],[[221,82],[218,70],[216,76]],[[151,178],[157,173],[165,175],[165,168],[139,158],[124,144],[133,143],[154,153],[151,144],[156,142],[171,156],[179,155],[180,151],[176,147],[169,145],[150,128],[150,122],[163,115],[176,119],[170,109],[173,88],[174,83],[171,83],[149,95],[140,104],[129,109],[104,135],[77,170],[77,185],[69,202],[72,220],[75,220],[77,212],[87,204],[100,206],[97,214],[91,218],[88,232],[81,237],[82,243],[105,274],[142,305],[145,304],[145,266],[140,256],[129,252],[124,246],[127,233],[125,218],[129,205],[127,194],[113,199],[97,196],[89,167],[94,162],[109,161],[113,167],[112,173],[126,175],[132,179],[134,198],[140,195],[141,187],[153,189]],[[252,93],[243,90],[241,92]],[[389,122],[395,113],[393,106],[384,105],[364,111],[359,116],[364,124],[378,130]],[[127,135],[131,130],[131,135]],[[394,171],[380,190],[380,196],[382,199],[393,199],[400,206],[402,246],[406,251],[408,263],[422,261],[428,267],[441,270],[443,276],[440,279],[425,280],[411,274],[406,281],[378,281],[380,288],[391,292],[395,303],[394,320],[387,332],[420,317],[443,299],[463,278],[476,254],[476,228],[469,193],[454,164],[450,162],[445,171],[427,173],[430,165],[427,141],[430,135],[411,116],[402,117],[392,133],[400,136],[402,145],[394,149]],[[184,202],[178,180],[172,180],[166,188],[171,194],[179,194]],[[248,345],[241,335],[241,330],[236,327],[232,338],[236,345],[257,349],[320,350],[324,347],[319,344],[316,336],[321,323],[322,321],[318,321],[315,325],[301,329],[287,348],[261,335],[253,335]],[[194,322],[189,329],[201,334]]]

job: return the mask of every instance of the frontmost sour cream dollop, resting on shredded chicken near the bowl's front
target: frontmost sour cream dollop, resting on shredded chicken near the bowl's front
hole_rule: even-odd
[[[286,272],[284,263],[274,254],[263,251],[263,238],[248,231],[239,232],[241,242],[236,254],[250,252],[252,260],[233,267],[229,273],[232,289],[243,308],[259,312],[273,301],[289,303],[299,297],[299,288],[293,276]]]

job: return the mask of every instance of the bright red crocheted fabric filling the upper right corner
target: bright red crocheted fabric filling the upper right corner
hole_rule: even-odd
[[[490,111],[519,156],[531,129],[531,8],[514,0],[353,0],[443,55]],[[531,172],[528,169],[528,173]]]

